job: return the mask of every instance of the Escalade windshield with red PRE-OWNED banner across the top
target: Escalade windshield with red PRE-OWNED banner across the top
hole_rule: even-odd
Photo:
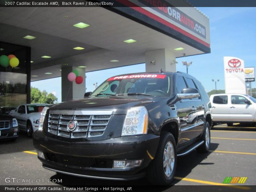
[[[170,96],[170,77],[162,74],[136,74],[111,77],[103,82],[91,96],[126,94]]]

